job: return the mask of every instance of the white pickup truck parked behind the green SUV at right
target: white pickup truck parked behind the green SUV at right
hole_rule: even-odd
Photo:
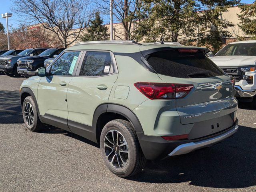
[[[210,59],[236,78],[236,98],[256,107],[256,40],[230,43]]]

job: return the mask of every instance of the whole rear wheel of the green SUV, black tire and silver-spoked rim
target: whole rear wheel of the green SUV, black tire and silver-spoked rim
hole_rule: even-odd
[[[132,124],[126,120],[112,120],[104,126],[100,149],[108,169],[122,178],[137,174],[146,164]]]

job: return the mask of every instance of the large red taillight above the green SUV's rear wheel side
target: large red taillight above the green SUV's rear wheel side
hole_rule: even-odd
[[[150,99],[184,98],[194,87],[192,84],[138,82],[134,86]]]

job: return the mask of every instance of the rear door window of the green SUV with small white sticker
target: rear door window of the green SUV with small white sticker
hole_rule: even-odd
[[[112,64],[110,52],[89,51],[84,57],[80,76],[101,76],[110,71]]]

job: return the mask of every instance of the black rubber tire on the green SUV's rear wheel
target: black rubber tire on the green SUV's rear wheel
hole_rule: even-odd
[[[108,147],[104,146],[104,142],[108,142],[108,140],[105,139],[106,135],[111,133],[111,132],[119,132],[120,134],[120,142],[126,141],[127,143],[127,148],[126,150],[128,150],[128,155],[126,155],[127,160],[125,161],[125,165],[120,161],[120,147],[119,147],[119,152],[114,151],[114,145],[115,145],[115,141],[114,141],[114,137],[113,136],[113,140],[112,142],[114,142],[112,147],[113,150],[113,154],[116,154],[116,158],[119,157],[119,161],[118,159],[116,159],[116,164],[120,164],[123,165],[118,167],[115,167],[112,162],[110,162],[110,159],[112,160],[112,156],[109,156],[109,158],[107,157],[108,153],[110,155],[109,149]],[[118,136],[117,136],[118,138]],[[121,141],[121,138],[123,139]],[[118,140],[118,139],[117,139]],[[118,141],[117,141],[118,142]],[[122,143],[120,144],[122,145]],[[117,145],[116,145],[117,147]],[[118,148],[118,147],[117,147]],[[106,166],[108,167],[108,169],[116,174],[119,177],[122,178],[127,178],[130,176],[133,176],[135,174],[137,174],[138,172],[140,172],[143,167],[146,164],[146,158],[140,148],[140,144],[138,141],[138,138],[136,136],[136,133],[134,131],[134,128],[132,127],[132,124],[126,120],[121,120],[121,119],[117,119],[117,120],[112,120],[110,122],[108,122],[104,128],[102,129],[101,135],[100,135],[100,149],[101,149],[101,154],[103,156],[104,162],[106,164]],[[130,150],[129,150],[130,149]],[[117,149],[118,150],[118,149]],[[119,156],[118,156],[119,154]],[[117,157],[118,156],[118,157]],[[128,157],[127,157],[128,156]],[[114,157],[113,157],[114,158]],[[125,159],[125,158],[122,158]],[[114,161],[113,161],[114,162]]]

